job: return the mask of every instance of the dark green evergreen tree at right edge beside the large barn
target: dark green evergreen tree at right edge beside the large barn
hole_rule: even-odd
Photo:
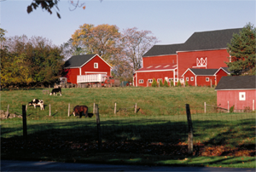
[[[234,34],[227,51],[231,62],[227,62],[235,75],[256,75],[256,28],[248,23],[239,34]],[[228,57],[228,58],[230,58]]]

